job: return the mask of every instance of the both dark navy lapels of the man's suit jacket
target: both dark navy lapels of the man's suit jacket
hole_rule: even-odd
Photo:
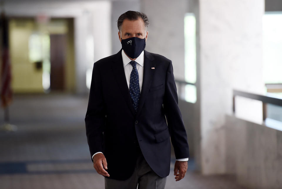
[[[132,112],[132,115],[135,115],[135,110],[133,108],[131,97],[129,94],[129,89],[127,86],[127,81],[124,73],[124,67],[122,62],[122,55],[121,55],[122,49],[115,55],[113,64],[112,64],[112,70],[115,75],[117,84],[120,88],[120,91],[122,93],[122,96],[128,105],[129,109]],[[144,50],[144,68],[143,68],[143,82],[142,82],[142,90],[140,99],[138,102],[138,110],[136,113],[136,117],[140,114],[140,111],[144,105],[145,99],[147,97],[149,88],[152,83],[152,79],[155,73],[155,69],[151,69],[151,67],[155,67],[154,62],[152,61],[154,58],[150,54],[150,52]]]

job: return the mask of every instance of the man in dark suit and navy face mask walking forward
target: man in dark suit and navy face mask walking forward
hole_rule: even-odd
[[[123,13],[117,21],[122,49],[93,66],[85,125],[105,188],[164,188],[169,137],[176,181],[187,171],[189,147],[172,61],[144,50],[148,25],[144,13]]]

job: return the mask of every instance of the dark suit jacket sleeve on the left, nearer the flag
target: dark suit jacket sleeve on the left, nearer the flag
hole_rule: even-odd
[[[104,152],[103,131],[106,121],[105,104],[98,66],[97,62],[94,63],[88,107],[85,116],[86,137],[92,161],[93,154],[98,151]]]

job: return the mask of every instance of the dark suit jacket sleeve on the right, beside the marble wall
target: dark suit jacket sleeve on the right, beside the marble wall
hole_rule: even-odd
[[[169,62],[166,74],[163,108],[167,118],[167,125],[176,159],[189,157],[187,134],[178,107],[177,89],[174,81],[172,61]]]

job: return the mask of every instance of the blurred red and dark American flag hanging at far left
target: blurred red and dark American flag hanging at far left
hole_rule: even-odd
[[[1,106],[7,107],[12,101],[11,64],[9,58],[9,26],[5,14],[1,13]]]

